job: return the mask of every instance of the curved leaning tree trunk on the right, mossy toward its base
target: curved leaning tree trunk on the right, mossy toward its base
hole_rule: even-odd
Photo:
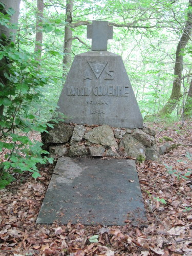
[[[173,81],[173,88],[172,94],[168,99],[167,103],[164,107],[159,111],[159,115],[166,115],[171,114],[175,109],[181,94],[181,75],[182,75],[182,66],[183,66],[183,56],[181,52],[184,50],[187,42],[190,38],[191,29],[192,29],[192,0],[189,0],[188,4],[188,12],[187,12],[187,20],[185,23],[183,34],[179,40],[179,44],[176,50],[176,61],[175,61],[175,69],[174,69],[174,81]]]

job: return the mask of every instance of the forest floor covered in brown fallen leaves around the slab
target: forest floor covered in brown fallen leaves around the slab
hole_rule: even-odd
[[[161,163],[137,164],[146,225],[35,224],[53,172],[50,165],[41,167],[37,180],[23,174],[0,190],[0,255],[192,255],[192,174],[185,176],[192,165],[189,154],[187,158],[192,153],[191,123],[148,125],[157,133],[158,146],[166,142],[164,136],[173,141]],[[40,140],[40,135],[30,136]]]

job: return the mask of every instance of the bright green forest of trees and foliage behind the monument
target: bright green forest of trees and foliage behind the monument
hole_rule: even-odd
[[[52,127],[72,60],[91,49],[92,20],[114,26],[108,50],[122,56],[145,119],[191,117],[192,0],[1,0],[0,6],[0,149],[8,151],[1,187],[13,180],[8,170],[37,178],[36,163],[52,161],[26,134]]]

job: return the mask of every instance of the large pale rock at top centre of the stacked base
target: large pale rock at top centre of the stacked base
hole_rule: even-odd
[[[118,147],[113,131],[109,125],[101,125],[94,128],[92,131],[84,134],[84,138],[94,144]]]

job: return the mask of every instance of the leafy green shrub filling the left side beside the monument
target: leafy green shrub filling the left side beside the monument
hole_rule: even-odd
[[[7,14],[4,16],[6,18]],[[44,86],[52,80],[40,70],[34,53],[19,48],[14,42],[0,41],[0,44],[0,107],[3,109],[0,154],[6,153],[5,160],[0,163],[0,188],[4,188],[23,172],[31,172],[35,179],[40,177],[37,163],[53,163],[52,158],[41,156],[48,154],[42,150],[42,143],[31,141],[27,136],[31,131],[46,132],[47,126],[52,127],[41,121],[34,111],[44,98]]]

